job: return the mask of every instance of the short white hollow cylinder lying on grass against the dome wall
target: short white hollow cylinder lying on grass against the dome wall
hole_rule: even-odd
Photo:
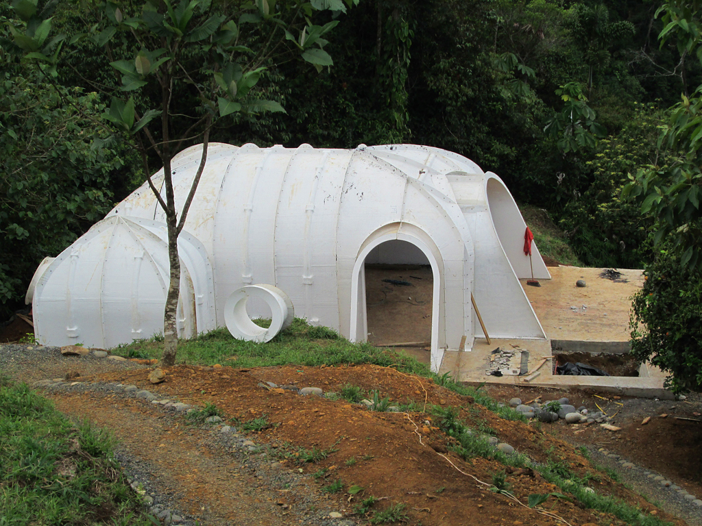
[[[271,322],[269,328],[256,325],[249,318],[246,312],[246,302],[249,298],[262,299],[271,311]],[[280,331],[289,327],[293,323],[295,311],[293,302],[274,285],[257,283],[256,285],[246,285],[246,287],[234,290],[224,308],[224,320],[227,329],[234,338],[245,339],[249,342],[270,342]]]

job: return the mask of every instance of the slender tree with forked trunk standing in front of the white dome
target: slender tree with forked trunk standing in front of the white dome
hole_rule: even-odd
[[[315,25],[316,11],[338,17],[358,0],[256,0],[233,8],[211,0],[100,1],[80,12],[84,31],[53,35],[58,0],[15,0],[16,20],[6,43],[22,59],[39,64],[53,82],[71,45],[89,42],[105,53],[119,82],[92,83],[111,96],[104,117],[131,137],[143,160],[147,182],[164,210],[168,231],[170,283],[164,308],[165,365],[176,360],[176,308],[180,293],[178,234],[204,170],[213,124],[227,116],[284,112],[279,102],[256,97],[267,67],[300,56],[320,71],[330,66],[324,39],[338,20]],[[84,79],[90,83],[90,79]],[[176,102],[177,101],[177,102]],[[171,161],[184,146],[202,143],[199,167],[184,204],[176,206]],[[152,182],[150,156],[164,173],[164,194]]]

